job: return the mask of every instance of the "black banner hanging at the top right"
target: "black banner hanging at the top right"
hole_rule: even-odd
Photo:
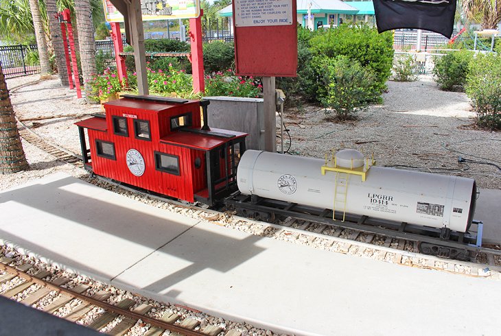
[[[377,31],[425,29],[450,38],[456,0],[373,0]]]

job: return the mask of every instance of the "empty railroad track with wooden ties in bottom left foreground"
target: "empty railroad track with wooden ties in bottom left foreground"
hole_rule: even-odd
[[[99,307],[103,313],[89,322],[86,326],[96,331],[106,328],[108,324],[121,319],[106,331],[108,335],[126,335],[130,329],[138,323],[150,324],[150,328],[144,335],[162,335],[170,331],[170,335],[219,335],[224,332],[226,336],[240,336],[240,331],[231,329],[224,331],[219,326],[207,325],[202,330],[198,320],[189,317],[181,318],[176,313],[165,313],[159,319],[146,315],[153,308],[148,304],[140,304],[131,309],[137,303],[135,300],[126,298],[113,305],[106,300],[110,293],[98,291],[92,296],[87,296],[88,285],[77,285],[73,289],[63,288],[70,279],[57,277],[47,281],[43,278],[54,278],[53,274],[45,270],[37,270],[30,263],[11,266],[15,260],[6,256],[0,256],[0,270],[5,271],[0,275],[0,285],[4,290],[0,293],[6,298],[18,300],[28,306],[36,305],[46,300],[38,309],[46,313],[57,313],[58,316],[70,322],[82,320],[87,313]],[[32,273],[28,274],[27,272]],[[49,298],[49,300],[47,300]]]

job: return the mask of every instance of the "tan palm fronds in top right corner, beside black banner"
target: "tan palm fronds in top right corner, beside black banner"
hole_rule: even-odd
[[[463,0],[463,11],[468,19],[480,22],[483,29],[498,29],[501,21],[501,1]]]

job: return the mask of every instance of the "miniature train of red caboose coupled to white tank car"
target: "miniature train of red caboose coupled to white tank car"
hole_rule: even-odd
[[[292,216],[420,241],[421,252],[445,258],[480,248],[475,180],[373,167],[353,149],[325,162],[246,151],[248,134],[209,128],[208,105],[134,95],[106,103],[106,115],[76,123],[84,167],[191,203],[224,201],[256,219]]]

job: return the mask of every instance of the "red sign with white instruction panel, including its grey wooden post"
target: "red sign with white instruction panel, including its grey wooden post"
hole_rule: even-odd
[[[263,77],[265,149],[277,151],[275,77],[295,77],[295,0],[234,0],[233,29],[237,75]]]

